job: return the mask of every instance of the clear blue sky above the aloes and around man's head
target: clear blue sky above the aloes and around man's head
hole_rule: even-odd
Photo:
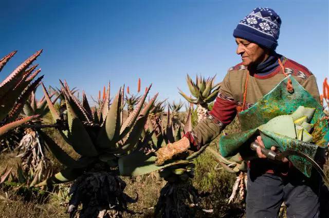
[[[186,74],[220,82],[240,63],[232,36],[255,7],[273,8],[282,19],[277,52],[309,68],[320,91],[329,76],[328,1],[2,1],[0,56],[18,50],[0,79],[39,49],[46,85],[96,96],[111,80],[179,100],[188,92]],[[40,93],[39,93],[40,95]]]

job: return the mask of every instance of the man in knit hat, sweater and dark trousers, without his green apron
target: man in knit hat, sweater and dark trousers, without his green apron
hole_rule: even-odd
[[[279,15],[270,8],[255,8],[242,19],[233,32],[236,53],[241,55],[242,63],[229,69],[205,120],[181,140],[159,149],[158,164],[214,140],[237,113],[250,108],[287,74],[293,75],[320,101],[315,76],[306,67],[275,52],[280,25]],[[263,145],[260,136],[257,141]],[[318,217],[320,179],[317,176],[306,178],[287,159],[277,164],[269,162],[260,149],[257,154],[259,158],[248,163],[247,218],[277,217],[282,202],[287,206],[288,217]]]

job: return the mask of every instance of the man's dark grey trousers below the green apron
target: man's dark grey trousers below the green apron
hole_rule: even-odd
[[[286,176],[248,169],[246,218],[276,218],[287,206],[287,218],[319,218],[320,178],[307,178],[296,168]]]

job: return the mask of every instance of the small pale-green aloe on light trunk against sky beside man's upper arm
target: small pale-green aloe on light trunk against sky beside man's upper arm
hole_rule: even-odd
[[[187,75],[186,81],[193,97],[189,97],[187,94],[182,92],[181,94],[188,102],[196,105],[198,123],[202,121],[209,110],[208,104],[213,102],[220,91],[221,83],[214,84],[215,76],[205,77],[196,76],[195,82],[192,81],[191,77]]]

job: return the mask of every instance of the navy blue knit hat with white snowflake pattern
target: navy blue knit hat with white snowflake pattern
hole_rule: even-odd
[[[275,50],[278,46],[281,18],[270,8],[255,8],[240,21],[233,32],[234,37]]]

